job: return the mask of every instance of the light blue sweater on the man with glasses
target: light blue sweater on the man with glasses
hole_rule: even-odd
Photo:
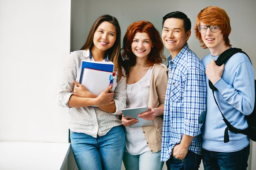
[[[204,67],[211,59],[218,56],[206,55],[202,59]],[[207,115],[202,128],[203,148],[218,152],[234,152],[249,144],[249,138],[243,134],[229,131],[229,142],[224,143],[224,131],[227,127],[222,120],[220,110],[226,119],[236,128],[248,127],[245,115],[252,113],[254,108],[254,69],[248,57],[236,53],[225,64],[222,77],[214,84],[218,91],[214,92],[220,110],[218,109],[211,89],[207,82]]]

